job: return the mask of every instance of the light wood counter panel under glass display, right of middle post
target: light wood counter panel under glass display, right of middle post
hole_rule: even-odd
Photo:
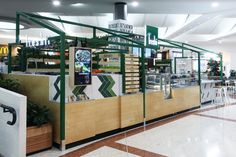
[[[200,106],[199,86],[172,90],[172,99],[164,99],[162,91],[147,93],[147,120]]]

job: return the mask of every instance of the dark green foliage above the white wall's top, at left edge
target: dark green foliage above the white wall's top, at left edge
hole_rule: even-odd
[[[16,79],[12,78],[4,79],[3,77],[0,77],[0,87],[19,93],[20,82]]]

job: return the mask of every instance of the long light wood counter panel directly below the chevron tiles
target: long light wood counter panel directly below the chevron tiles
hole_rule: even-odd
[[[120,128],[120,97],[66,105],[66,144]]]

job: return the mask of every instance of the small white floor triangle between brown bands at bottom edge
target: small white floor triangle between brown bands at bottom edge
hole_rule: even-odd
[[[139,157],[107,146],[101,147],[82,157]]]

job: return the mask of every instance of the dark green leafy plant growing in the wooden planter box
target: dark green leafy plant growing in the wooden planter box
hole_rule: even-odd
[[[27,102],[27,126],[38,126],[52,121],[52,114],[46,106]]]

